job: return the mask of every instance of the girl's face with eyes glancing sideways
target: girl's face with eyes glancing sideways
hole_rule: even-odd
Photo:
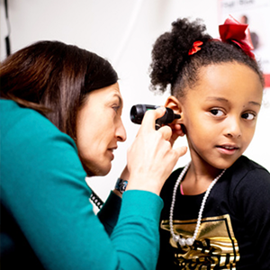
[[[251,68],[237,63],[202,67],[199,75],[180,101],[193,164],[228,168],[253,138],[263,88]]]

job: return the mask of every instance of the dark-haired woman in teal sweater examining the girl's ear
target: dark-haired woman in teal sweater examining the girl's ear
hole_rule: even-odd
[[[186,150],[171,148],[169,127],[155,130],[164,109],[146,114],[122,174],[127,192],[111,193],[99,220],[85,176],[108,174],[126,139],[112,66],[41,41],[6,58],[0,79],[2,268],[154,269],[157,195]]]

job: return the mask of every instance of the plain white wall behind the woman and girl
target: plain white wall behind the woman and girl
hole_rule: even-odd
[[[4,0],[1,7],[1,60],[5,57]],[[130,107],[135,103],[163,104],[166,94],[154,95],[148,90],[148,66],[152,44],[178,17],[200,17],[212,36],[218,37],[219,0],[10,0],[12,50],[22,49],[37,40],[61,40],[96,52],[112,62],[121,80],[124,99],[123,122],[128,139],[121,143],[105,177],[89,180],[94,191],[103,199],[113,188],[125,165],[126,150],[134,139],[138,125],[130,122]],[[257,133],[247,157],[270,170],[270,90],[266,105],[257,122]],[[267,105],[268,103],[268,105]],[[186,144],[179,139],[177,145]],[[177,166],[184,166],[188,154]]]

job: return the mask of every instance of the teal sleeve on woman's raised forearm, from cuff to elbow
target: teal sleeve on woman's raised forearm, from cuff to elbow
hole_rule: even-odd
[[[112,231],[112,242],[122,255],[123,269],[156,269],[157,225],[162,207],[163,201],[154,193],[135,190],[123,193],[119,221]]]

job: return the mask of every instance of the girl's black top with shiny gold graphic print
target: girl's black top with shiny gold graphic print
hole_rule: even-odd
[[[169,211],[175,182],[183,168],[170,175],[161,191],[165,206],[160,219],[157,269],[270,269],[270,174],[247,157],[235,164],[213,186],[192,247],[175,244]],[[202,197],[182,195],[178,187],[174,231],[193,237]]]

